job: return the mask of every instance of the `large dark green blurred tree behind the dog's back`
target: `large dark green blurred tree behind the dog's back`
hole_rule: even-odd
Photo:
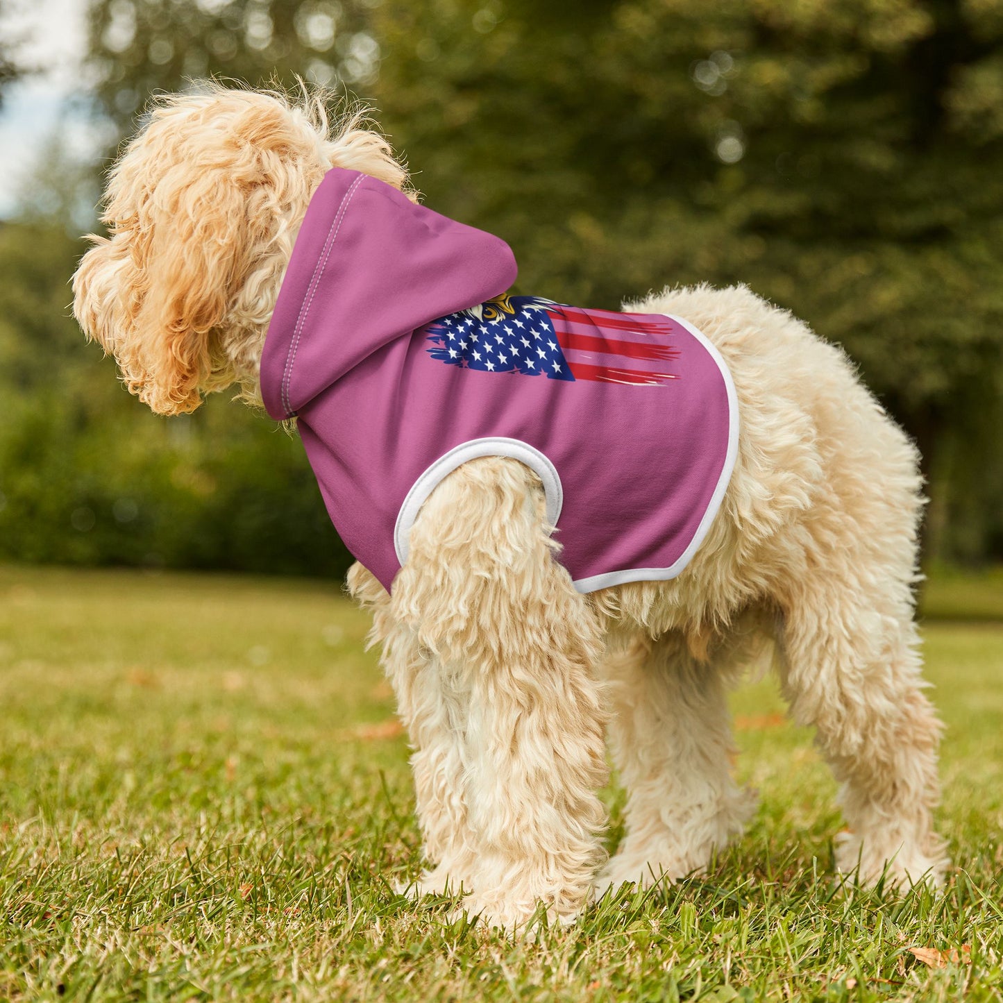
[[[963,418],[1003,389],[1003,5],[391,0],[373,32],[416,183],[506,237],[526,291],[741,281],[789,307],[919,440],[933,549],[959,550],[953,430],[1003,465]],[[980,493],[967,556],[998,533]]]

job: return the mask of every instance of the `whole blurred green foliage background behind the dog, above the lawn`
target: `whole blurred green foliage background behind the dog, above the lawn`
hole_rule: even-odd
[[[524,292],[747,283],[917,438],[928,557],[1003,558],[999,0],[99,0],[88,71],[118,135],[208,73],[373,101],[426,202],[507,239]],[[0,555],[343,568],[295,440],[224,400],[145,414],[81,344],[72,186],[46,185],[0,230]]]

